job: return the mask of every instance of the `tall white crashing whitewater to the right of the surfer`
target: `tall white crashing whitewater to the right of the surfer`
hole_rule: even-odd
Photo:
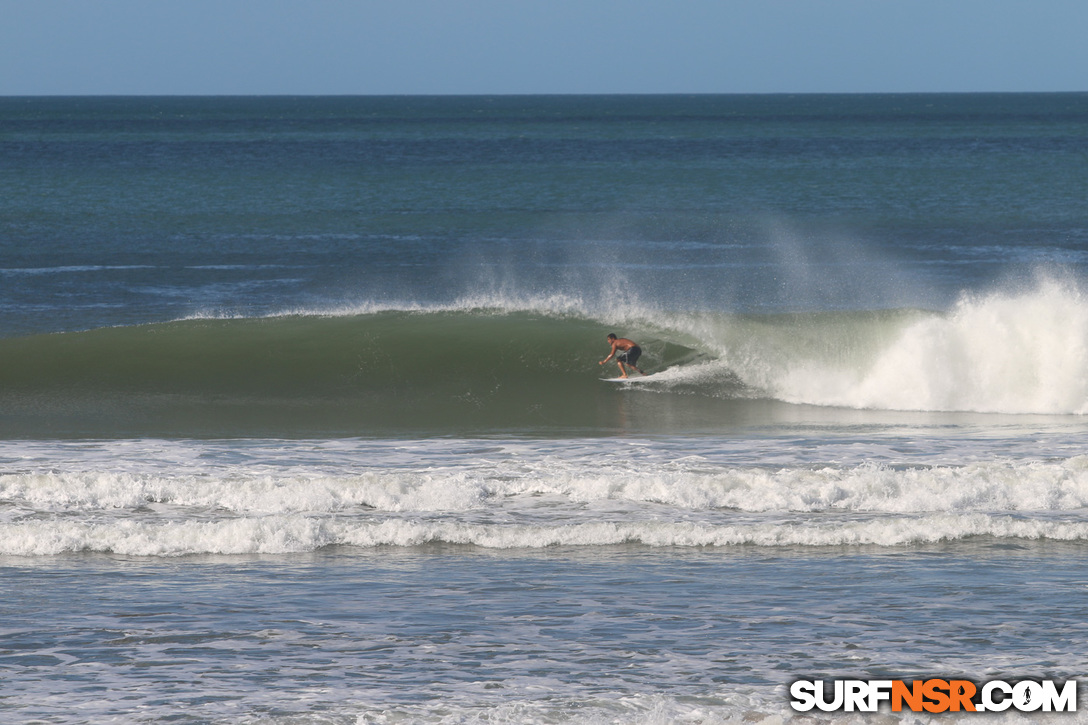
[[[842,354],[733,359],[741,377],[792,403],[902,410],[1088,413],[1088,300],[1052,280],[964,297],[887,343]]]

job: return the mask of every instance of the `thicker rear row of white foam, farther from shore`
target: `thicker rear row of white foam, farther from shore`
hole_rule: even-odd
[[[739,467],[700,456],[644,460],[482,459],[471,465],[336,476],[239,470],[200,475],[32,472],[0,476],[0,501],[41,513],[149,506],[178,516],[448,513],[625,502],[749,513],[1074,512],[1088,507],[1088,456],[961,466]],[[566,513],[564,515],[567,515]]]

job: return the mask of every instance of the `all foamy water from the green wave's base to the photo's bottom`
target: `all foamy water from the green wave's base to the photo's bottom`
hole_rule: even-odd
[[[8,441],[3,703],[46,722],[134,702],[210,722],[790,722],[787,668],[1079,672],[1080,428],[947,426]]]

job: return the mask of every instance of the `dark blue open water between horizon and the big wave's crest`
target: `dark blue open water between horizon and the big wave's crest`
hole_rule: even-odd
[[[1088,99],[7,98],[3,331],[448,302],[945,306],[1085,263]]]

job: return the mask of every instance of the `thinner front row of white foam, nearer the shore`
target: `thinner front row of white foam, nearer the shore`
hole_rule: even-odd
[[[508,518],[508,517],[504,517]],[[722,520],[722,519],[717,519]],[[728,521],[730,519],[724,519]],[[285,554],[347,545],[463,544],[485,549],[551,546],[903,546],[973,537],[1084,541],[1088,521],[990,514],[883,517],[738,517],[707,520],[484,523],[429,517],[370,519],[275,515],[217,520],[29,519],[0,524],[0,554],[47,556],[109,552],[133,556]]]

